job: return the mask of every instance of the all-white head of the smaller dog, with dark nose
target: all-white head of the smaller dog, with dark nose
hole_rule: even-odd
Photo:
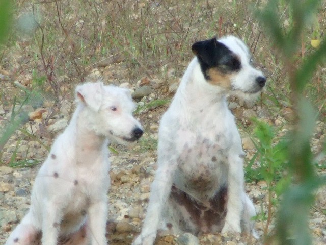
[[[101,82],[86,83],[77,86],[76,97],[86,106],[89,127],[97,135],[122,144],[137,141],[143,135],[139,121],[132,116],[135,105],[129,90]]]

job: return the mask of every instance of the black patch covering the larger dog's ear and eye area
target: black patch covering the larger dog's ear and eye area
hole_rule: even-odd
[[[197,56],[205,79],[209,68],[216,68],[222,73],[230,73],[241,69],[241,62],[229,48],[216,40],[216,37],[195,42],[192,46],[193,53]]]

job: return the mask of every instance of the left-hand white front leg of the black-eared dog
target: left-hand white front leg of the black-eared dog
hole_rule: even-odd
[[[173,173],[173,164],[169,164],[169,162],[160,163],[151,185],[151,194],[143,229],[132,243],[133,245],[152,245],[154,243],[161,213],[171,191]]]

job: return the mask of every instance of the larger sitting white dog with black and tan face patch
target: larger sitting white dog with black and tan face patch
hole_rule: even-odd
[[[258,94],[266,78],[247,46],[227,36],[196,42],[174,99],[160,121],[158,169],[141,234],[252,232],[255,209],[244,192],[244,153],[230,94]]]

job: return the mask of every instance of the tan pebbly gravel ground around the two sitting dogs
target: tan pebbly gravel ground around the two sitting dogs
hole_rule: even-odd
[[[113,64],[115,65],[115,64]],[[112,69],[113,68],[113,69]],[[127,87],[133,91],[134,100],[139,105],[137,116],[146,131],[143,139],[130,148],[112,144],[111,161],[111,189],[108,193],[110,199],[108,211],[108,239],[110,244],[131,244],[131,241],[140,232],[142,220],[150,193],[150,184],[153,181],[156,169],[156,140],[159,120],[167,109],[168,104],[162,106],[144,106],[149,102],[158,99],[169,99],[173,90],[177,87],[177,81],[163,83],[158,79],[143,78],[136,84],[129,84],[128,81],[117,82],[113,71],[118,67],[95,69],[91,72],[90,80],[103,78],[121,87]],[[5,76],[5,75],[3,75]],[[123,76],[122,76],[123,77]],[[28,86],[28,78],[24,83],[6,84],[7,89],[19,89],[19,86]],[[107,82],[105,82],[107,83]],[[5,145],[2,154],[2,166],[0,166],[0,244],[4,244],[6,238],[21,220],[30,207],[30,194],[40,164],[46,157],[48,151],[45,146],[50,146],[55,135],[66,127],[71,111],[74,108],[72,103],[73,86],[65,84],[61,87],[67,91],[61,102],[56,104],[53,100],[45,100],[39,106],[25,105],[24,110],[29,113],[29,121],[22,127],[24,131],[16,131]],[[162,94],[170,94],[162,96]],[[249,108],[248,108],[249,107]],[[17,108],[17,106],[16,106]],[[233,110],[239,122],[250,124],[247,118],[258,116],[273,125],[283,127],[280,131],[285,133],[291,127],[286,123],[287,118],[271,116],[266,108],[257,105],[242,106],[241,102],[232,99],[230,108]],[[0,105],[0,122],[3,126],[11,117],[12,107]],[[286,113],[284,113],[286,114]],[[26,133],[27,132],[27,133]],[[243,148],[246,151],[247,159],[255,153],[255,146],[249,135],[240,131],[243,139]],[[325,124],[318,122],[315,136],[312,141],[312,149],[318,152],[321,143],[325,138]],[[12,156],[15,154],[15,162],[25,161],[23,164],[31,164],[29,167],[12,168],[8,166]],[[37,161],[36,161],[37,160]],[[320,156],[319,161],[324,161]],[[258,163],[255,163],[256,165]],[[319,170],[323,174],[324,170]],[[254,201],[257,212],[266,213],[267,191],[266,183],[260,181],[246,184],[246,191]],[[295,205],[295,204],[293,204]],[[326,189],[321,188],[316,194],[315,205],[311,209],[309,220],[310,228],[314,237],[314,244],[321,245],[326,242]],[[275,211],[275,210],[274,210]],[[263,235],[265,222],[257,221],[256,229],[260,237]],[[273,232],[273,223],[269,227]],[[189,234],[182,236],[166,236],[157,239],[156,244],[262,244],[261,239],[241,236],[240,234],[203,234],[199,238]]]

